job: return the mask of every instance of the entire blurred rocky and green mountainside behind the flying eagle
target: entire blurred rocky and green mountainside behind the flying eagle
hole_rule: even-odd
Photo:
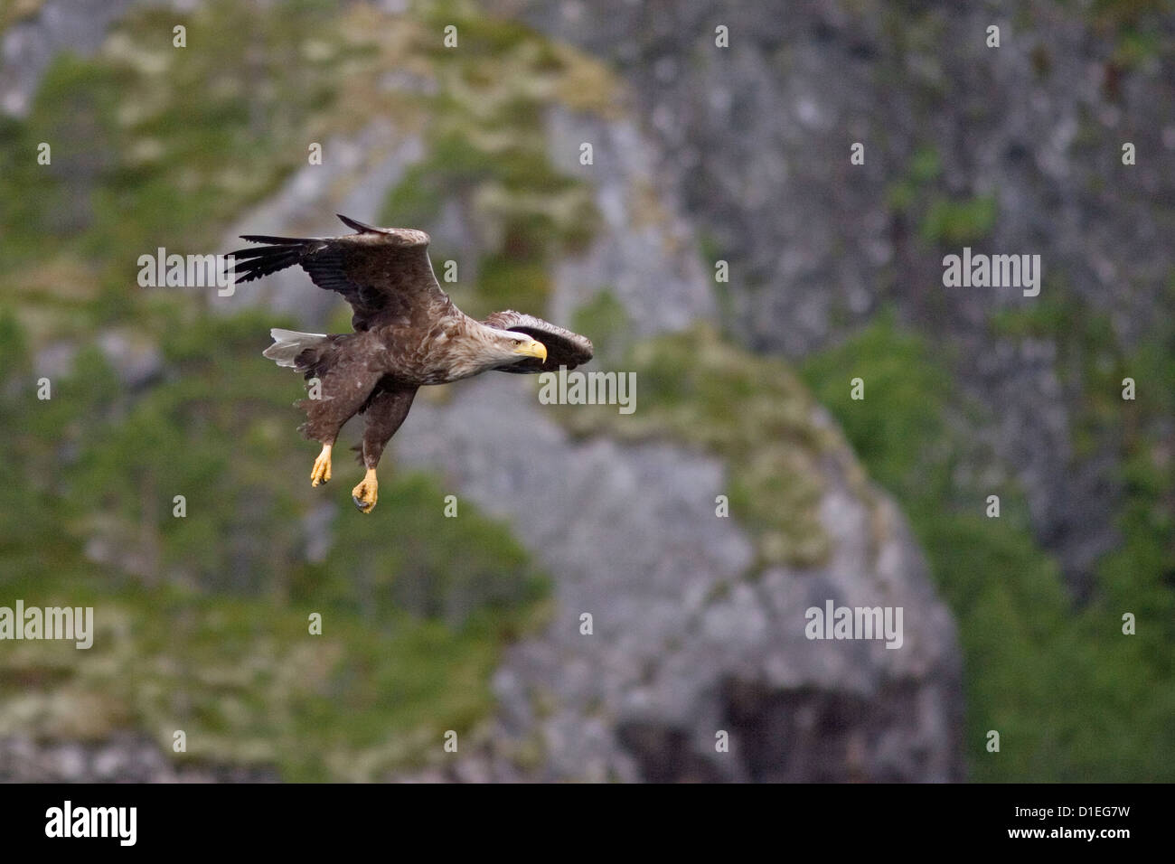
[[[1175,779],[1171,4],[0,0],[0,605],[96,619],[0,644],[0,779]],[[137,260],[336,212],[636,413],[430,388],[370,516],[349,458],[311,489],[261,351],[349,309]],[[944,288],[965,246],[1040,295]],[[807,641],[826,600],[902,648]]]

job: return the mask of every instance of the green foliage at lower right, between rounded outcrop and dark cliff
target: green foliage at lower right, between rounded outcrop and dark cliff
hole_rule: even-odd
[[[1136,429],[1132,413],[1169,417],[1175,407],[1175,336],[1167,328],[1164,337],[1127,362],[1147,382],[1144,402],[1119,400],[1120,422]],[[1074,343],[1081,346],[1081,339]],[[1009,483],[987,488],[959,481],[959,454],[973,444],[966,428],[948,422],[948,409],[964,416],[975,409],[960,404],[949,363],[924,337],[882,316],[808,360],[801,374],[837,416],[870,475],[901,504],[958,617],[972,776],[1170,781],[1175,483],[1164,440],[1140,429],[1127,444],[1124,543],[1102,562],[1092,602],[1075,608],[1056,562],[1029,530],[1022,494]],[[855,376],[865,380],[862,401],[850,397]],[[1120,395],[1120,387],[1113,394]],[[1156,470],[1160,454],[1168,462]],[[991,494],[1001,500],[998,520],[985,515]],[[1123,612],[1137,616],[1136,636],[1122,635]],[[985,750],[989,729],[1000,732],[999,754]]]

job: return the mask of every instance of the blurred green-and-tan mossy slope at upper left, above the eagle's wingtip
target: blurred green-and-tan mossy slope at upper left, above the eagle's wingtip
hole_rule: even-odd
[[[0,123],[4,270],[34,281],[48,253],[83,261],[93,283],[72,290],[89,299],[120,292],[128,250],[215,248],[227,220],[304,165],[289,140],[316,132],[334,94],[334,5],[295,7],[143,8],[102,54],[58,58],[29,116]],[[172,46],[176,24],[189,48]],[[323,48],[308,56],[311,33]],[[31,156],[42,141],[48,166]]]

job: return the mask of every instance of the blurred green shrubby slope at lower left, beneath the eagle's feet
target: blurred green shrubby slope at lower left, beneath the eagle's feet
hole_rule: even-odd
[[[164,381],[127,394],[93,350],[38,400],[22,333],[0,317],[4,603],[94,605],[94,648],[0,655],[0,735],[142,726],[187,758],[287,779],[372,779],[476,729],[509,641],[543,619],[548,581],[505,525],[385,463],[371,517],[348,474],[309,488],[297,380],[258,360],[271,316],[176,321]],[[173,498],[186,497],[176,517]],[[315,510],[325,507],[307,521]],[[327,535],[316,560],[307,536]],[[323,635],[308,616],[320,612]]]

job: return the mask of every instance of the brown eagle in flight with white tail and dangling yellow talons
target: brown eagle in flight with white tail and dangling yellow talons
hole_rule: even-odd
[[[273,329],[264,356],[317,379],[318,396],[297,403],[300,431],[322,443],[311,485],[330,480],[330,451],[343,423],[365,418],[360,462],[367,468],[351,498],[362,513],[375,507],[375,469],[383,448],[408,416],[416,390],[488,369],[512,373],[573,369],[592,356],[591,341],[542,319],[496,312],[484,321],[465,315],[441,290],[429,261],[429,235],[409,228],[375,228],[338,216],[355,229],[341,237],[242,235],[263,246],[231,253],[236,282],[298,264],[320,288],[351,304],[355,333],[316,334]]]

